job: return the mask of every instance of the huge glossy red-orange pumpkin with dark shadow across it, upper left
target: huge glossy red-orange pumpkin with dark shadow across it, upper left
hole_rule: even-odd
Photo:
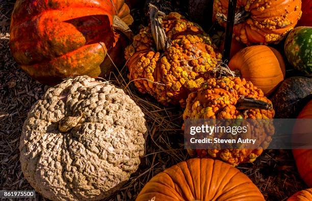
[[[77,75],[99,76],[100,65],[110,60],[107,52],[124,37],[113,30],[114,15],[133,22],[123,0],[18,0],[10,48],[21,68],[45,84]]]

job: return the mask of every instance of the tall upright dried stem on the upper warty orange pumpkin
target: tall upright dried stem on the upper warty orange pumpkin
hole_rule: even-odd
[[[152,36],[157,48],[157,51],[165,51],[169,46],[169,40],[162,27],[161,19],[158,16],[164,16],[165,13],[158,10],[158,8],[152,4],[149,4],[149,18]]]

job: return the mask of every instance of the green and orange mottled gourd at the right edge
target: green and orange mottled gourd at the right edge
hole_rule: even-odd
[[[284,44],[285,56],[295,69],[312,75],[312,26],[294,28]]]

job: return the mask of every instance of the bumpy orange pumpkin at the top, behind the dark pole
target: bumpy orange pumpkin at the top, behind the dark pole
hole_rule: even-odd
[[[228,0],[214,2],[214,16],[224,26],[227,9]],[[247,45],[278,43],[300,16],[301,0],[239,0],[233,34]]]

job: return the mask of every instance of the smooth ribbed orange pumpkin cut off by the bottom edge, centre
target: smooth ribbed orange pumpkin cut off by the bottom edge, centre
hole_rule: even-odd
[[[165,169],[142,189],[136,201],[265,200],[237,168],[213,159],[190,159]]]

